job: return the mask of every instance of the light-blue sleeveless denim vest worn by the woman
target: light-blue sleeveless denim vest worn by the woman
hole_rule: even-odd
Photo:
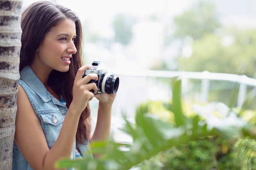
[[[20,71],[19,84],[25,90],[36,116],[40,119],[47,145],[51,149],[61,131],[61,126],[67,113],[67,107],[47,91],[29,66],[26,66]],[[85,141],[85,145],[77,144],[77,146],[81,150],[83,157],[92,157],[89,141]],[[75,158],[75,148],[76,141],[74,142],[71,159]],[[87,155],[87,153],[89,154]],[[12,169],[32,170],[15,142],[13,143]],[[70,168],[67,170],[73,169]]]

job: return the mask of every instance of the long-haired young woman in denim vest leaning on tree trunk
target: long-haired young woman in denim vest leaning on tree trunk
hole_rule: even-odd
[[[20,81],[13,170],[53,170],[62,158],[87,157],[89,142],[108,140],[114,94],[99,100],[91,136],[89,101],[96,74],[83,73],[82,29],[70,9],[49,1],[31,4],[21,19]]]

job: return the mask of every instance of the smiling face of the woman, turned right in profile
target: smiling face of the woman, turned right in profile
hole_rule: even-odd
[[[63,20],[52,27],[38,47],[31,67],[49,72],[68,71],[70,58],[76,53],[75,38],[76,25],[72,20]]]

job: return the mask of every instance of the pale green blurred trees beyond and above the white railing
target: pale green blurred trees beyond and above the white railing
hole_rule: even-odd
[[[180,42],[175,67],[180,71],[244,74],[256,77],[256,29],[239,29],[220,22],[214,4],[198,0],[172,21],[168,44]],[[173,30],[168,27],[166,34]],[[166,45],[168,45],[166,44]],[[174,65],[165,61],[157,69]]]

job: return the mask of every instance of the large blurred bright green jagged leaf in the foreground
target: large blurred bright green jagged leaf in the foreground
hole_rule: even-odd
[[[124,117],[126,125],[122,130],[132,137],[131,144],[117,143],[112,139],[108,142],[94,142],[91,144],[92,152],[103,155],[101,159],[62,159],[56,163],[56,167],[74,167],[79,170],[129,170],[152,157],[159,156],[161,152],[174,150],[184,144],[196,144],[194,141],[202,139],[254,139],[255,126],[231,109],[226,110],[225,115],[216,116],[198,106],[198,114],[187,117],[182,109],[180,86],[181,81],[177,80],[173,86],[172,102],[164,104],[166,109],[173,113],[173,123],[149,114],[148,104],[141,104],[136,110],[135,124]]]

